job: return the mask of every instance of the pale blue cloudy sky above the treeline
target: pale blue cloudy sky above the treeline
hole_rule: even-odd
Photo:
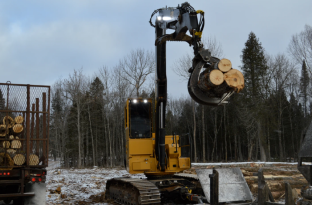
[[[183,2],[0,1],[0,82],[52,85],[74,69],[83,68],[91,76],[103,66],[113,68],[132,49],[154,50],[151,13]],[[312,25],[310,0],[188,2],[205,12],[203,37],[216,37],[233,68],[241,65],[241,51],[251,31],[266,52],[275,55],[286,53],[291,36],[305,24]],[[187,94],[187,82],[172,66],[191,51],[186,42],[167,43],[169,95]]]

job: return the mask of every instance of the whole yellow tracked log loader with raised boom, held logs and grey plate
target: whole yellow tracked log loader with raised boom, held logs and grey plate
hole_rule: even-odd
[[[105,198],[123,205],[158,205],[166,199],[188,203],[250,202],[252,195],[240,169],[198,170],[197,175],[181,173],[192,166],[192,141],[188,134],[165,135],[166,42],[185,41],[193,46],[195,56],[189,69],[188,92],[197,103],[225,105],[227,98],[244,87],[243,75],[238,70],[233,71],[230,61],[220,61],[204,49],[202,10],[196,11],[185,2],[175,8],[157,9],[151,19],[157,13],[155,24],[150,20],[156,37],[155,101],[129,98],[124,107],[125,167],[130,174],[143,173],[146,178],[110,179],[106,183]],[[197,16],[200,16],[199,21]],[[166,34],[167,29],[174,32]],[[216,70],[219,73],[214,72]],[[224,187],[225,183],[230,186]],[[219,184],[223,190],[220,197],[215,192]],[[229,188],[232,192],[227,192]]]

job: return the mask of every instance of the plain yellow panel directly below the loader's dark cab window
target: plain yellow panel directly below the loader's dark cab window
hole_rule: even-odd
[[[129,155],[153,154],[152,139],[129,139]]]

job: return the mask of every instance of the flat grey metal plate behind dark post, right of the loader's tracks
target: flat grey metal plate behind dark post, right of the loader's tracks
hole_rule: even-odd
[[[219,202],[252,200],[251,191],[240,168],[217,169],[219,173]],[[210,203],[210,178],[212,169],[196,169],[205,196]]]

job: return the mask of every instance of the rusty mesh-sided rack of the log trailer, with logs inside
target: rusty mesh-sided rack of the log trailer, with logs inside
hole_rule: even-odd
[[[50,87],[0,83],[0,169],[47,166]]]

